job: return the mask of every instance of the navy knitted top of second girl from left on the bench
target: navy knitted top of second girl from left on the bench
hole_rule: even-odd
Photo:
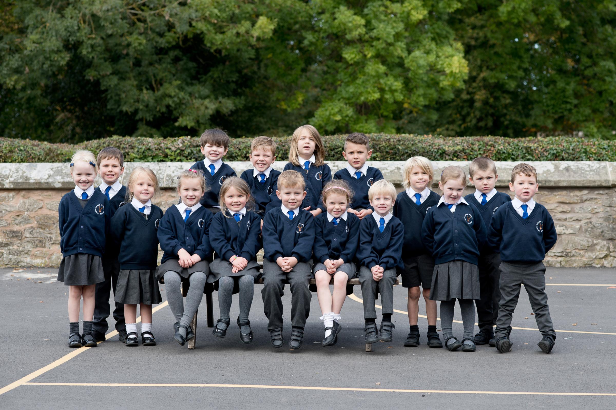
[[[216,213],[209,226],[209,244],[217,258],[228,261],[233,255],[257,260],[261,243],[261,216],[246,212],[238,224],[229,211]]]

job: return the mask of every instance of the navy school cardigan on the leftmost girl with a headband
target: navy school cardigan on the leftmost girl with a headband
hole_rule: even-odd
[[[103,256],[107,232],[110,230],[109,200],[100,191],[81,203],[75,192],[63,195],[58,207],[60,251],[66,258],[75,253]]]

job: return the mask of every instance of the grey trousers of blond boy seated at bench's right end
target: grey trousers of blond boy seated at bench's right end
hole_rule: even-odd
[[[376,282],[372,279],[372,271],[368,269],[368,266],[359,268],[359,282],[362,284],[364,319],[376,319],[376,292],[381,293],[383,313],[394,313],[394,282],[396,277],[397,271],[395,269],[387,269],[383,272],[383,278]]]

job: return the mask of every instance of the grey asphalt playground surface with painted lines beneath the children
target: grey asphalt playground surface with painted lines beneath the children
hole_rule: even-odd
[[[338,344],[326,348],[315,293],[304,345],[286,345],[288,286],[285,345],[273,348],[262,287],[255,285],[251,345],[240,342],[233,320],[226,338],[211,334],[204,297],[195,350],[174,340],[168,306],[153,314],[157,346],[128,348],[113,336],[95,348],[69,349],[68,290],[56,275],[56,269],[0,269],[0,409],[616,408],[616,269],[548,268],[546,292],[557,330],[549,355],[537,346],[541,336],[524,289],[509,353],[488,345],[474,353],[428,348],[424,318],[422,344],[405,348],[407,294],[400,285],[394,289],[394,341],[375,343],[371,353],[363,343],[359,286],[342,308]],[[215,292],[215,320],[217,303]],[[232,319],[237,314],[236,295]],[[461,320],[457,306],[455,320]],[[453,330],[461,338],[462,324],[455,322]]]

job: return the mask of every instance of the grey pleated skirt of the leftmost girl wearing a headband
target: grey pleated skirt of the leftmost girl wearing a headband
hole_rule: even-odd
[[[74,253],[62,258],[58,269],[58,282],[65,285],[94,285],[105,281],[100,256]]]

